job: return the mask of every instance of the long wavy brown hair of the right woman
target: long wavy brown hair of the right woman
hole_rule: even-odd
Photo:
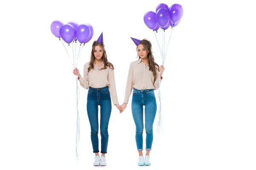
[[[143,47],[145,48],[145,50],[147,51],[148,53],[148,66],[149,66],[149,71],[152,71],[153,72],[153,75],[155,78],[157,78],[157,70],[159,70],[159,65],[154,61],[154,55],[153,55],[153,52],[152,52],[152,45],[151,45],[151,42],[148,41],[146,38],[144,38],[143,40],[141,40],[140,44],[143,45]],[[138,44],[138,46],[140,45]],[[137,46],[137,48],[138,48]],[[137,50],[136,48],[136,50]],[[137,57],[139,57],[140,59],[140,56],[139,54],[137,54]],[[158,68],[156,68],[155,66],[157,65]]]

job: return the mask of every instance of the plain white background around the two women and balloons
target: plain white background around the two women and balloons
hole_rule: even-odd
[[[248,2],[2,2],[0,169],[255,170],[256,13]],[[113,106],[108,165],[93,167],[87,90],[80,86],[81,140],[77,162],[76,77],[61,41],[50,31],[52,21],[93,26],[93,38],[84,46],[79,61],[81,72],[89,61],[93,40],[103,32],[108,60],[116,69],[117,94],[122,104],[129,63],[137,60],[130,37],[150,40],[156,61],[161,64],[154,33],[143,21],[145,12],[155,11],[160,3],[178,3],[184,14],[173,28],[164,64],[160,88],[163,130],[154,132],[151,166],[137,167],[135,125],[129,102],[122,114]]]

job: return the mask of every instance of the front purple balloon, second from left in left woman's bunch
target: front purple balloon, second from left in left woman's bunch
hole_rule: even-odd
[[[70,42],[72,42],[74,40],[76,31],[75,31],[75,28],[73,26],[71,26],[70,24],[64,24],[63,26],[61,26],[60,34],[61,34],[61,38],[65,42],[70,44]]]

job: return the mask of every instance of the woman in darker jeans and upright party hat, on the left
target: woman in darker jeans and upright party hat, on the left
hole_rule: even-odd
[[[87,114],[91,127],[91,142],[93,153],[95,153],[94,166],[105,166],[107,164],[105,154],[108,147],[108,122],[111,115],[111,98],[113,105],[122,111],[118,104],[113,64],[108,62],[103,34],[97,41],[93,42],[90,62],[84,64],[84,77],[81,77],[76,68],[73,73],[78,76],[80,85],[88,90]],[[99,156],[98,139],[98,106],[100,105],[100,135],[101,135],[101,157]]]

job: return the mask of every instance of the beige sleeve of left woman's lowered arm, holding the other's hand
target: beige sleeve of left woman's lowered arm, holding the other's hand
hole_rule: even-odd
[[[115,74],[114,74],[114,70],[112,69],[110,69],[108,73],[108,82],[110,84],[110,87],[108,90],[110,92],[113,104],[116,105],[118,104],[118,100],[117,100],[117,94],[116,94]]]

